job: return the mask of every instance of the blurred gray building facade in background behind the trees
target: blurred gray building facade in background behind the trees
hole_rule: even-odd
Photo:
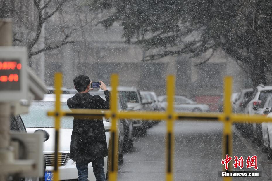
[[[61,41],[60,35],[72,32],[70,39],[74,43],[31,57],[31,68],[48,86],[54,85],[55,72],[63,72],[63,86],[67,88],[73,88],[73,78],[79,74],[86,74],[93,81],[103,80],[109,84],[110,75],[118,73],[121,86],[136,86],[143,91],[165,95],[166,76],[174,74],[176,95],[185,95],[197,102],[207,103],[215,110],[222,97],[225,75],[233,76],[234,92],[252,85],[250,78],[235,60],[221,49],[216,50],[211,57],[211,52],[207,52],[197,58],[180,55],[143,62],[145,52],[140,46],[124,43],[122,27],[118,23],[109,29],[97,25],[105,14],[94,14],[80,2],[64,4],[60,11],[48,19],[34,47],[41,48],[48,42]],[[75,12],[71,11],[74,7],[78,8]],[[37,13],[32,1],[26,3],[25,0],[14,0],[11,8],[18,8],[23,17],[14,22],[16,32],[23,36],[35,29]],[[50,8],[53,9],[54,6],[49,6],[48,12],[51,11]],[[25,22],[29,27],[24,25]],[[71,26],[67,27],[67,24]],[[207,58],[209,61],[199,64]],[[167,84],[174,85],[173,82]]]

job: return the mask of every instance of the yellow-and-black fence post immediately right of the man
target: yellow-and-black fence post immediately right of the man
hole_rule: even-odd
[[[117,180],[117,170],[118,170],[118,133],[117,133],[117,113],[118,113],[118,98],[117,98],[117,87],[118,87],[118,75],[111,75],[111,150],[110,155],[110,170],[109,170],[109,181]]]

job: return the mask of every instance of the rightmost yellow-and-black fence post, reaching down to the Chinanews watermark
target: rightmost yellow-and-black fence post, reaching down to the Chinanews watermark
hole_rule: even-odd
[[[232,78],[230,76],[224,79],[224,128],[223,128],[223,159],[226,155],[232,156],[232,105],[231,105],[231,93],[232,92]],[[229,170],[231,169],[232,162],[228,163]],[[225,169],[225,168],[224,168]],[[223,177],[224,181],[232,180],[231,177]]]

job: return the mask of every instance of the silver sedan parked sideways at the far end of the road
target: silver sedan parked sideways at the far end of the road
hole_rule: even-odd
[[[161,107],[166,109],[167,100],[166,95],[159,96],[159,101],[161,102]],[[209,106],[206,104],[198,104],[184,96],[175,95],[174,107],[176,112],[209,112]]]

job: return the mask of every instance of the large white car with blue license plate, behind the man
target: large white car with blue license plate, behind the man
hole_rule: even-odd
[[[66,104],[68,98],[73,95],[61,95],[62,109],[70,110]],[[44,155],[46,157],[46,171],[45,180],[53,180],[54,170],[54,117],[47,116],[48,110],[53,110],[55,105],[55,95],[44,95],[42,101],[33,101],[29,107],[28,114],[21,114],[21,118],[25,124],[28,133],[33,133],[36,130],[44,130],[48,133],[48,140],[43,143]],[[104,119],[103,119],[104,120]],[[103,121],[106,141],[109,146],[111,123]],[[70,141],[73,128],[73,117],[63,117],[61,119],[60,139],[59,139],[59,153],[61,155],[59,165],[59,179],[60,180],[77,180],[78,170],[76,162],[69,158]],[[107,157],[104,157],[104,170],[107,170]],[[92,164],[88,165],[88,180],[95,180]]]

